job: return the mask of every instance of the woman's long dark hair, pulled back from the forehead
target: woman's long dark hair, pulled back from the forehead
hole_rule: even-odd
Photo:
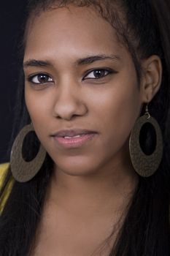
[[[26,25],[28,20],[36,14],[55,7],[66,7],[68,4],[74,4],[77,7],[95,7],[96,11],[109,21],[116,29],[120,42],[131,53],[139,80],[142,76],[141,60],[152,55],[158,55],[161,58],[163,66],[161,89],[150,102],[149,108],[151,116],[157,119],[163,133],[163,159],[154,175],[149,178],[139,177],[139,184],[127,208],[125,220],[108,256],[168,256],[170,255],[169,0],[31,0],[28,1]],[[23,54],[24,44],[22,58]],[[22,68],[20,73],[20,93],[18,94],[20,105],[16,111],[12,141],[16,130],[18,131],[30,121],[24,101]],[[35,143],[38,147],[39,143],[35,135],[29,136],[25,141],[23,154],[27,159],[33,158],[36,154],[33,150]],[[41,170],[31,181],[23,184],[15,181],[0,217],[0,255],[24,256],[31,252],[52,172],[53,161],[47,154]],[[10,176],[9,167],[0,196],[3,195]]]

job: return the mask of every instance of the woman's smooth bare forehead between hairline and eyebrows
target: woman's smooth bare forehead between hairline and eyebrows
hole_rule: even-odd
[[[32,18],[26,34],[25,57],[122,50],[116,31],[92,7],[62,7]],[[46,57],[46,56],[45,56]]]

